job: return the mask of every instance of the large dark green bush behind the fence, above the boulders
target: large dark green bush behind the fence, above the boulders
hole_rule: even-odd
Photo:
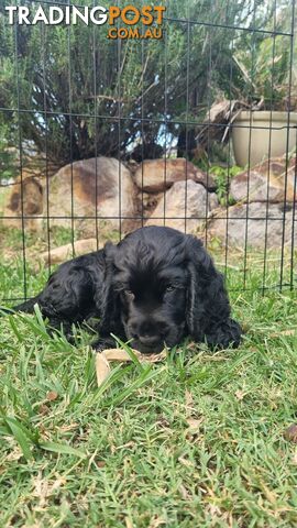
[[[141,141],[164,146],[162,122],[168,144],[180,122],[201,120],[230,85],[237,30],[229,28],[251,24],[253,12],[265,21],[266,0],[255,3],[170,0],[164,40],[141,42],[108,40],[106,28],[82,23],[16,30],[2,15],[0,106],[21,110],[3,119],[55,163],[95,154],[125,157]],[[188,24],[187,18],[199,23]]]

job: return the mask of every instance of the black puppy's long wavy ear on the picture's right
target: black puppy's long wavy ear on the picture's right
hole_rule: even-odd
[[[211,346],[239,345],[241,328],[230,319],[230,304],[222,275],[200,240],[187,237],[189,287],[187,294],[187,326],[197,341],[205,338]]]

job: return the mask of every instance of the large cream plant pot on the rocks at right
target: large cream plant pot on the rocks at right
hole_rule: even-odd
[[[295,128],[294,128],[295,127]],[[296,147],[297,113],[243,111],[233,122],[232,143],[237,165],[254,166],[268,157],[283,156]],[[251,130],[251,132],[250,132]],[[251,145],[251,147],[250,147]]]

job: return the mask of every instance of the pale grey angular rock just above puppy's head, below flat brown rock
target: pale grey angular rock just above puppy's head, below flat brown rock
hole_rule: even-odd
[[[187,183],[177,182],[162,196],[146,226],[168,226],[186,232],[201,229],[210,212],[210,206],[213,208],[218,205],[218,199],[215,196],[209,199],[210,196],[202,185],[196,184],[191,179]],[[187,217],[186,221],[185,216]]]

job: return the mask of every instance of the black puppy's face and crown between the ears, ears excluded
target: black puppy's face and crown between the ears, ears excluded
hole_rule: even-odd
[[[186,237],[168,228],[144,228],[106,249],[112,288],[131,346],[143,353],[174,346],[186,331]]]

